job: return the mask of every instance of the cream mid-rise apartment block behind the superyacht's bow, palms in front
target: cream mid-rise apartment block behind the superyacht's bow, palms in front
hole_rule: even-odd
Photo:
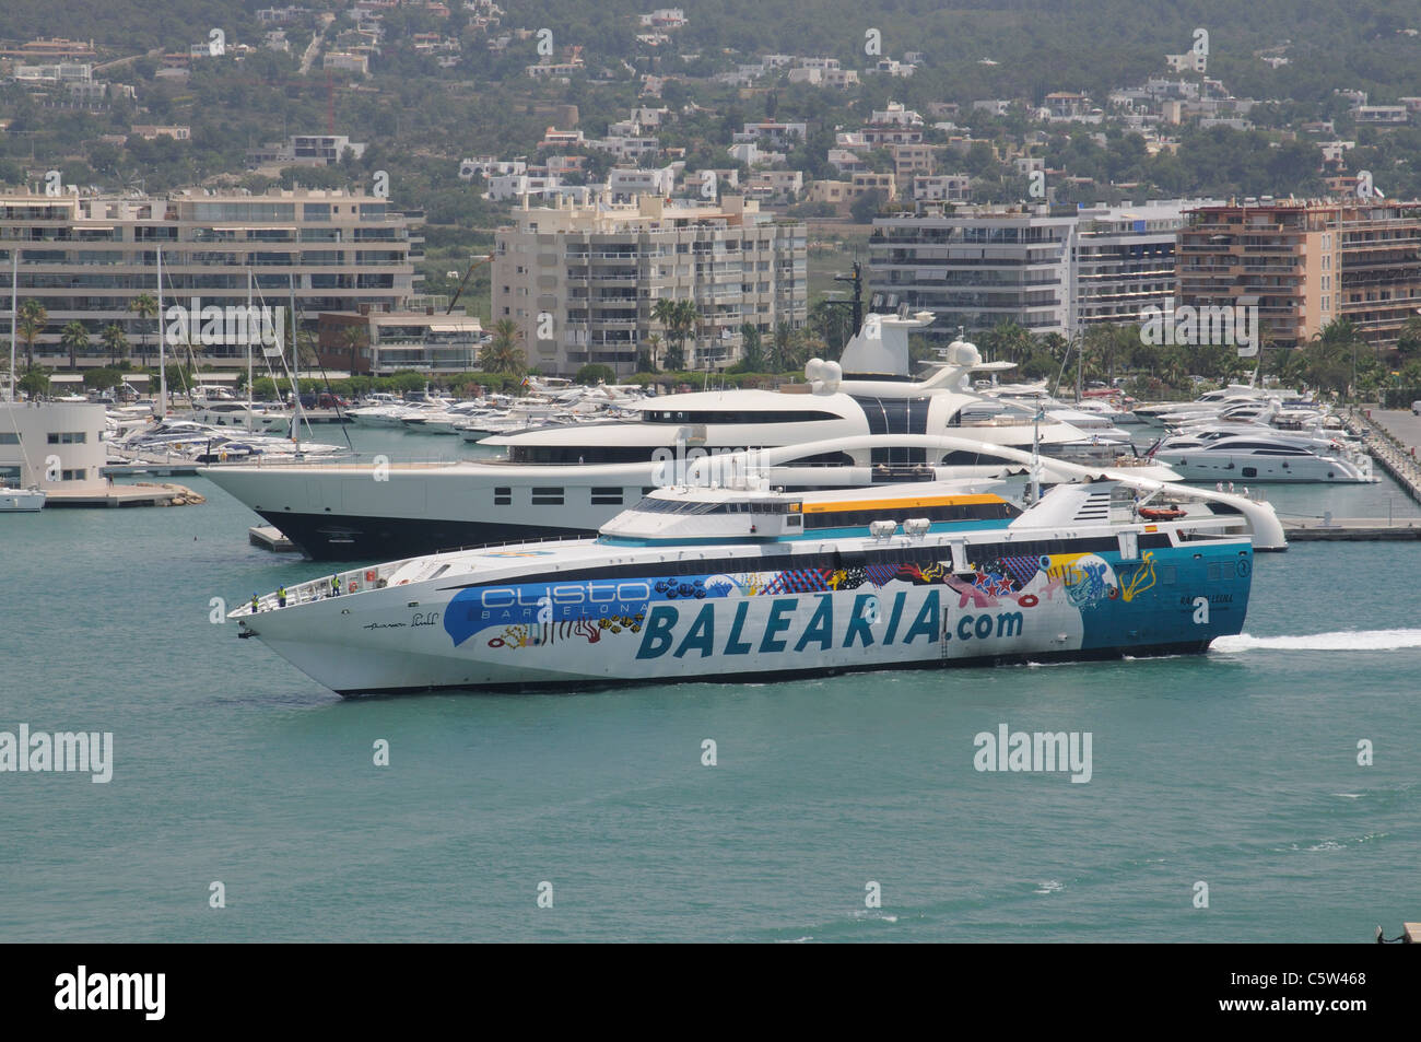
[[[638,196],[625,205],[557,200],[514,212],[497,233],[493,320],[510,318],[530,365],[574,374],[601,362],[630,375],[652,334],[658,300],[695,301],[685,343],[693,368],[723,368],[740,355],[740,327],[769,334],[807,317],[806,229],[773,220],[759,203],[722,196],[674,205]]]

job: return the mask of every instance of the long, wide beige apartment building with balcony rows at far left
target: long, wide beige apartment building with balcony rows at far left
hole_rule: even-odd
[[[135,358],[156,354],[156,324],[128,310],[142,293],[158,296],[162,249],[165,307],[236,307],[247,301],[247,274],[264,301],[287,307],[294,287],[298,318],[320,311],[398,310],[415,291],[422,256],[421,215],[385,199],[342,190],[189,189],[166,198],[0,195],[0,267],[20,253],[20,300],[48,313],[36,361],[68,364],[60,331],[88,330],[81,367],[101,365],[102,330],[118,324]],[[260,303],[260,301],[259,301]],[[244,365],[243,344],[206,344],[203,361]],[[149,357],[152,360],[152,357]]]

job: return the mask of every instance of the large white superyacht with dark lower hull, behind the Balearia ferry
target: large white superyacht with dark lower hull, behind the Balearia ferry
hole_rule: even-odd
[[[926,476],[983,476],[1002,471],[996,446],[1060,455],[1090,435],[1027,407],[973,418],[983,398],[973,372],[1012,368],[983,362],[955,341],[924,380],[909,375],[909,330],[932,313],[870,316],[841,362],[813,360],[809,384],[789,391],[695,392],[637,402],[639,419],[541,426],[483,439],[504,455],[452,465],[215,466],[217,486],[274,525],[317,560],[378,560],[510,537],[593,535],[638,502],[666,458],[793,446],[857,435],[963,434],[971,448],[929,453],[901,446],[803,452],[784,459],[789,488],[860,486]],[[993,402],[993,405],[999,405]],[[1101,458],[1118,449],[1096,446]],[[932,468],[956,468],[948,475]],[[1160,473],[1168,471],[1161,468]],[[374,478],[374,480],[372,480]]]

